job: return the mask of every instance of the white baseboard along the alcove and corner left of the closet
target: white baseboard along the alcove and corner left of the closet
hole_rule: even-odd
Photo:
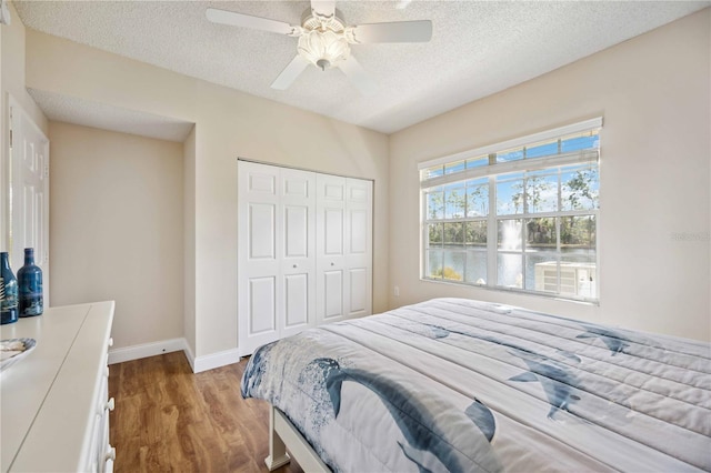
[[[154,356],[164,353],[183,351],[190,363],[193,373],[212,370],[240,361],[238,349],[226,350],[204,356],[192,353],[186,339],[163,340],[161,342],[143,343],[140,345],[124,346],[122,349],[109,350],[109,364],[122,363],[124,361],[140,360],[142,358]]]

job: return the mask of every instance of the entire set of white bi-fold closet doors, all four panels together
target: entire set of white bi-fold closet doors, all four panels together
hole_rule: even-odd
[[[239,161],[241,355],[372,306],[372,182]]]

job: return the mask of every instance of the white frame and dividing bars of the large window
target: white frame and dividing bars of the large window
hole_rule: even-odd
[[[467,150],[460,153],[450,154],[450,155],[437,158],[433,160],[420,162],[418,164],[418,170],[419,170],[418,174],[420,175],[420,225],[421,225],[420,279],[423,281],[435,282],[435,283],[454,283],[454,284],[462,284],[462,285],[472,285],[478,288],[487,288],[487,289],[492,289],[497,291],[513,291],[513,292],[520,292],[523,294],[542,295],[542,296],[549,296],[549,298],[552,296],[555,299],[583,301],[583,302],[590,302],[595,304],[599,303],[600,251],[599,251],[598,238],[595,239],[595,279],[598,281],[595,282],[597,291],[594,293],[594,296],[578,296],[569,293],[558,293],[558,292],[551,293],[551,292],[544,292],[544,291],[537,291],[534,289],[517,289],[517,288],[509,288],[509,286],[503,286],[498,284],[497,261],[498,261],[498,254],[500,254],[500,250],[498,248],[498,222],[500,220],[517,219],[517,220],[521,220],[522,222],[525,222],[528,219],[558,218],[557,219],[557,222],[558,222],[557,223],[557,248],[554,251],[552,251],[552,253],[555,253],[557,255],[560,256],[561,254],[560,233],[559,233],[560,220],[561,220],[560,218],[575,217],[575,215],[594,215],[598,233],[600,229],[600,219],[599,219],[599,207],[592,210],[561,210],[562,207],[561,207],[560,193],[558,195],[559,202],[558,202],[557,211],[529,213],[527,212],[525,207],[523,207],[523,210],[520,213],[515,213],[513,215],[498,215],[497,214],[497,183],[495,183],[497,175],[517,173],[517,172],[537,171],[545,168],[569,167],[574,164],[584,164],[584,163],[594,162],[597,164],[597,169],[599,170],[600,169],[599,148],[595,150],[582,150],[582,151],[574,151],[567,154],[557,154],[557,155],[545,157],[545,158],[520,159],[520,160],[507,161],[507,162],[492,162],[492,160],[490,159],[488,165],[465,169],[463,171],[458,171],[451,174],[443,173],[442,175],[437,175],[429,179],[422,179],[422,171],[430,168],[439,167],[439,165],[444,167],[445,164],[452,164],[460,161],[471,160],[477,157],[492,155],[504,150],[527,147],[530,144],[540,143],[548,140],[560,139],[560,138],[575,134],[575,133],[598,130],[601,128],[602,128],[602,118],[594,118],[594,119],[585,120],[582,122],[569,124],[565,127],[559,127],[555,129],[542,131],[540,133],[533,133],[533,134],[517,138],[513,140],[489,144],[485,147]],[[487,251],[485,284],[478,284],[473,282],[463,282],[463,281],[462,282],[451,281],[444,278],[440,280],[440,279],[427,276],[429,272],[429,268],[427,268],[428,261],[427,261],[425,254],[428,251],[428,242],[429,242],[429,224],[432,223],[433,221],[428,219],[428,214],[427,214],[428,202],[425,199],[424,191],[428,189],[432,189],[441,185],[443,187],[443,185],[452,184],[457,182],[467,182],[472,179],[481,179],[481,178],[489,179],[489,211],[488,211],[488,217],[485,218],[488,222],[487,250],[485,250]],[[465,221],[484,220],[482,218],[470,219],[470,218],[467,218],[467,215],[464,217],[465,218],[463,220]],[[458,220],[462,220],[462,219],[458,219]],[[435,221],[438,222],[442,221],[445,223],[448,220],[437,219]],[[525,230],[523,229],[523,231]],[[522,250],[521,253],[522,253],[521,254],[522,258],[524,259],[527,254],[525,251]],[[522,262],[522,264],[524,264],[524,261]],[[444,268],[444,265],[442,265],[442,268]],[[525,269],[524,269],[524,272],[525,272]],[[560,288],[560,278],[561,278],[560,269],[557,270],[557,274],[558,274],[557,276],[558,276],[558,283]]]

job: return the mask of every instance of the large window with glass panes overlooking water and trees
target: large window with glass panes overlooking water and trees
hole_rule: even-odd
[[[421,163],[422,278],[598,301],[601,125]]]

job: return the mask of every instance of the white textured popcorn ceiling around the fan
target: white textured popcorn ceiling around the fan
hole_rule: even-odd
[[[684,1],[338,1],[348,24],[430,19],[432,40],[356,44],[378,83],[363,98],[338,69],[309,67],[286,91],[270,88],[297,39],[213,24],[208,7],[300,22],[308,1],[16,1],[32,29],[392,133],[541,76],[711,4]],[[50,119],[120,110],[33,91]],[[102,111],[103,110],[103,111]],[[59,112],[57,112],[59,113]],[[89,119],[93,119],[91,114]],[[127,120],[131,113],[127,113]],[[84,118],[84,121],[87,118]],[[163,123],[166,124],[166,123]],[[184,127],[184,123],[178,123]],[[121,130],[119,124],[113,129]],[[123,131],[123,130],[121,130]]]

